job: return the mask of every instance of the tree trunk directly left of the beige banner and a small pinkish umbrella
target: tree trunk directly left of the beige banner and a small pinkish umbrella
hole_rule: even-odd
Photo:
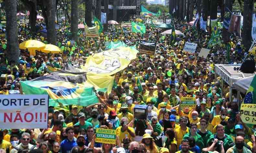
[[[78,36],[78,0],[71,1],[71,33],[72,38],[77,42]]]

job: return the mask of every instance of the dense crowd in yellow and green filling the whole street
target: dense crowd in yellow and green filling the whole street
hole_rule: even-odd
[[[146,20],[143,16],[131,20],[136,18]],[[214,73],[215,64],[241,63],[248,51],[233,37],[212,47],[207,57],[199,57],[210,33],[173,20],[175,29],[184,33],[176,36],[174,45],[170,45],[170,35],[161,35],[164,29],[151,24],[145,24],[148,37],[132,33],[129,27],[110,26],[97,39],[79,36],[77,43],[68,44],[70,27],[61,24],[56,45],[64,46],[62,54],[36,52],[31,57],[27,50],[20,50],[19,64],[6,60],[6,39],[1,37],[0,94],[4,95],[19,90],[20,81],[48,75],[47,66],[62,68],[70,63],[79,68],[88,56],[100,48],[105,50],[107,41],[124,41],[139,50],[139,42],[144,40],[157,42],[157,47],[154,56],[138,54],[116,73],[111,93],[97,93],[99,103],[72,105],[68,111],[50,106],[47,129],[1,129],[0,148],[7,153],[256,153],[255,129],[242,122],[237,99],[229,96],[225,83],[220,86]],[[38,23],[38,28],[42,26]],[[20,43],[31,38],[47,43],[40,33],[29,35],[27,24],[18,25],[18,29]],[[198,44],[197,51],[184,52],[185,42]],[[182,97],[194,97],[196,107],[182,108]],[[136,104],[147,106],[145,119],[134,117]],[[116,144],[95,142],[96,128],[115,129]]]

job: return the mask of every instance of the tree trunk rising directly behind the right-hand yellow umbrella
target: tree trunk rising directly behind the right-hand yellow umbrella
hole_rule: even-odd
[[[47,41],[52,45],[56,45],[56,32],[55,32],[55,13],[56,13],[56,0],[47,0]]]

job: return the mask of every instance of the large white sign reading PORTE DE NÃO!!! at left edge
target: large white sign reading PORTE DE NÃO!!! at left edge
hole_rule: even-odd
[[[49,95],[1,95],[0,128],[47,128]]]

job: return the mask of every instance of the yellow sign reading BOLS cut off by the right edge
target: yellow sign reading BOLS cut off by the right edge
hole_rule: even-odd
[[[240,114],[244,123],[256,124],[256,104],[241,104]]]

